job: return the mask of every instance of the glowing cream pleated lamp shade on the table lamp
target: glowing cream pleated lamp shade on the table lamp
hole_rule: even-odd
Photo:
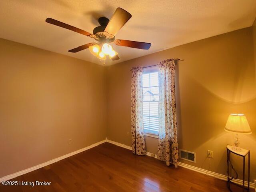
[[[251,134],[252,131],[244,114],[230,114],[225,126],[228,132],[236,132],[242,134]]]

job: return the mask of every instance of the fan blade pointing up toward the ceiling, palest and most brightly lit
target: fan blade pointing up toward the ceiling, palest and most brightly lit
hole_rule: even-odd
[[[118,7],[114,12],[112,18],[108,22],[104,32],[107,32],[110,36],[115,36],[118,30],[132,17],[126,10]]]

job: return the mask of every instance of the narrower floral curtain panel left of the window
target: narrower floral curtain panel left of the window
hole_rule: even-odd
[[[143,132],[142,66],[132,68],[132,152],[145,155]]]

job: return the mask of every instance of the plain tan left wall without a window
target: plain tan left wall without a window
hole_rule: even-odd
[[[3,39],[0,50],[0,177],[105,139],[104,67]]]

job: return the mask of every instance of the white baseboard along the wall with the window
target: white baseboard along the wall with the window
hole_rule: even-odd
[[[130,146],[127,146],[127,145],[124,145],[124,144],[121,144],[121,143],[118,143],[118,142],[115,142],[115,141],[108,140],[107,138],[106,138],[106,142],[109,142],[109,143],[112,143],[114,145],[132,150],[132,147],[130,147]],[[151,156],[151,153],[146,152],[146,155]],[[156,154],[154,154],[154,158],[157,158]],[[212,172],[212,171],[207,171],[205,169],[201,169],[201,168],[198,168],[198,167],[195,167],[195,166],[191,166],[191,165],[188,165],[188,164],[185,164],[185,163],[182,163],[182,162],[178,162],[178,166],[184,167],[184,168],[187,168],[189,170],[196,171],[196,172],[199,172],[199,173],[202,173],[202,174],[206,174],[208,176],[212,176],[214,178],[218,178],[218,179],[221,179],[221,180],[224,180],[224,181],[228,180],[228,177],[226,175],[219,174],[219,173]],[[236,184],[239,184],[239,185],[243,184],[243,181],[240,180],[240,179],[233,179],[232,181]],[[245,184],[245,186],[248,186],[248,182],[245,182],[244,184]],[[254,183],[250,182],[250,188],[254,188],[254,186],[255,186]]]

